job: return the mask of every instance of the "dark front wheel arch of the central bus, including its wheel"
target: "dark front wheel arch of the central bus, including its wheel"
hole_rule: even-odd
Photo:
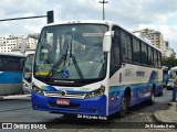
[[[124,91],[124,95],[121,99],[121,110],[118,112],[119,117],[124,117],[128,110],[129,103],[131,103],[131,88],[127,87]]]

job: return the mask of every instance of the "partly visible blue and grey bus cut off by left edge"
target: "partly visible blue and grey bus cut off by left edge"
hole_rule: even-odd
[[[22,94],[22,55],[0,54],[0,96]]]

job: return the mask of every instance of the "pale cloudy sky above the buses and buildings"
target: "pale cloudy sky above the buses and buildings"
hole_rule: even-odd
[[[54,22],[70,20],[103,20],[102,0],[3,0],[0,20],[46,15],[54,11]],[[105,20],[128,31],[159,31],[177,53],[177,0],[105,0]],[[46,19],[0,21],[0,35],[40,33]]]

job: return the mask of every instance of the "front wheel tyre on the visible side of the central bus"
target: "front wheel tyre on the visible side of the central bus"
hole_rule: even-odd
[[[122,108],[121,111],[118,112],[118,116],[124,117],[126,112],[127,112],[127,98],[126,96],[124,96],[122,99]]]

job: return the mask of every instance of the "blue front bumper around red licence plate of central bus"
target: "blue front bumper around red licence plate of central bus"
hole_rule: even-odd
[[[69,100],[70,105],[58,105],[56,101]],[[98,96],[88,99],[62,99],[44,97],[32,91],[31,95],[33,110],[42,110],[62,114],[91,114],[106,116],[106,96]]]

